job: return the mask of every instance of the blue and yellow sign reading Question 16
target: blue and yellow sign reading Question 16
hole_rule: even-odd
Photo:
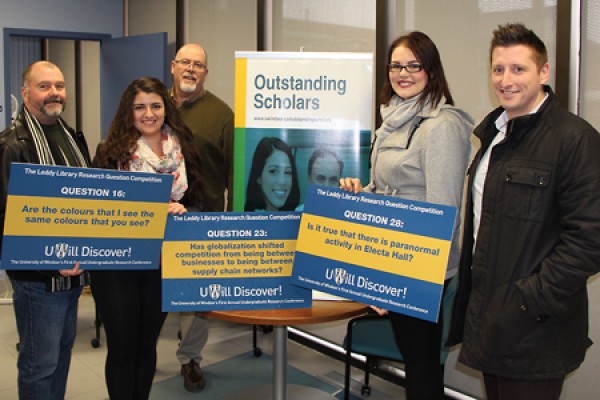
[[[2,267],[156,269],[171,175],[12,164]]]

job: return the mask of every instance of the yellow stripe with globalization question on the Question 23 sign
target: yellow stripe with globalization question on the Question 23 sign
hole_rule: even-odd
[[[267,278],[292,275],[296,240],[163,242],[163,278]]]

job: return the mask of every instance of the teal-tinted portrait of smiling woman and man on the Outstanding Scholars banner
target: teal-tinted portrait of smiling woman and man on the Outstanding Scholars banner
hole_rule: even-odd
[[[248,129],[244,211],[302,211],[309,184],[339,187],[346,173],[368,179],[367,136],[341,130]]]

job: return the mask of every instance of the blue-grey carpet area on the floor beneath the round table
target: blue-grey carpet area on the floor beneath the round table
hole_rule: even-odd
[[[217,400],[245,387],[270,384],[273,376],[272,358],[267,354],[255,357],[252,352],[202,367],[202,370],[207,379],[204,390],[197,393],[187,392],[183,388],[183,377],[178,375],[155,383],[152,386],[150,400]],[[332,396],[340,391],[340,388],[290,365],[287,368],[287,377],[288,384],[310,386],[331,393]]]

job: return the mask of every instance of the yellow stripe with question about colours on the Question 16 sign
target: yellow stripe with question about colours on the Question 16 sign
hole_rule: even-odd
[[[162,239],[167,203],[8,196],[4,234]]]

